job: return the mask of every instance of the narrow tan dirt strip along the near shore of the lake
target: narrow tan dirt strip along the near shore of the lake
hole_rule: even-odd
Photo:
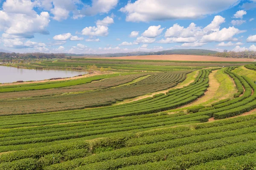
[[[55,79],[55,80],[39,80],[39,81],[33,81],[33,82],[13,82],[13,83],[0,84],[0,86],[5,86],[5,85],[24,85],[24,84],[41,83],[41,82],[64,81],[64,80],[81,79],[81,78],[85,78],[85,77],[92,77],[92,76],[97,76],[97,75],[102,75],[102,74],[112,74],[112,72],[101,73],[100,71],[95,71],[92,74],[85,74],[85,75],[79,76],[79,77],[71,77],[71,78]]]

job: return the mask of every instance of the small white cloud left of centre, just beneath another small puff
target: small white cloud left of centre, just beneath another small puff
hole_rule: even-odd
[[[107,26],[93,26],[93,27],[85,27],[82,30],[83,35],[88,36],[107,36],[108,35],[108,27]]]

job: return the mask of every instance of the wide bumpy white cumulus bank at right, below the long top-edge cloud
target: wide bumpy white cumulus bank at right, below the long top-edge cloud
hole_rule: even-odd
[[[244,31],[240,31],[235,27],[222,28],[220,30],[220,26],[224,22],[225,18],[218,15],[204,28],[196,26],[195,23],[191,23],[187,28],[174,24],[166,30],[166,39],[162,39],[158,41],[158,43],[195,42],[193,44],[184,45],[202,46],[204,45],[203,43],[206,42],[237,41],[237,38],[234,38],[233,36]]]

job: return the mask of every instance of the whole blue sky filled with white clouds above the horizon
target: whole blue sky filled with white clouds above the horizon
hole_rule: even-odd
[[[0,0],[0,48],[256,51],[256,0]]]

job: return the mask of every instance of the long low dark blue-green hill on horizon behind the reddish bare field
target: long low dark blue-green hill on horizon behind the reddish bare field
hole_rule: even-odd
[[[203,50],[203,49],[175,49],[157,52],[130,52],[130,53],[108,53],[108,54],[66,54],[66,56],[100,56],[100,57],[122,57],[122,56],[144,56],[144,55],[167,55],[167,54],[181,54],[181,55],[209,55],[216,54],[218,51]]]

